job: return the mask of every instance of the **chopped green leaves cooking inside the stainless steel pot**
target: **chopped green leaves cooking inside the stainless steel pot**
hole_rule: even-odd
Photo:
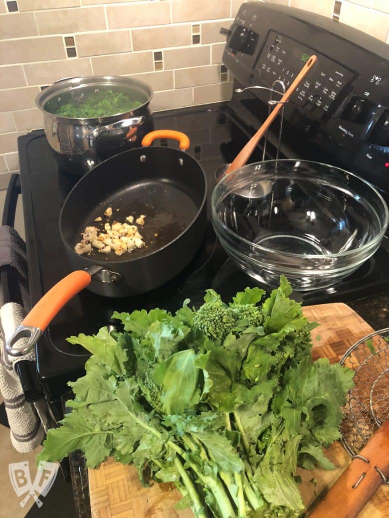
[[[131,100],[121,92],[104,90],[93,92],[80,101],[75,100],[74,102],[63,104],[56,110],[55,114],[73,119],[94,119],[108,117],[117,113],[126,113],[139,108],[139,106],[141,106],[139,101]]]

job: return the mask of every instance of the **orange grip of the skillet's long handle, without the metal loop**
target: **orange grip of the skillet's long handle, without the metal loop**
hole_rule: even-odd
[[[38,327],[44,331],[54,316],[77,293],[87,287],[92,278],[87,271],[76,270],[54,284],[33,307],[22,322],[22,325]]]

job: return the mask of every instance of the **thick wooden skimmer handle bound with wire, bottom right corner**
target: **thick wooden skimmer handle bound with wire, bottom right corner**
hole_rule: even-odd
[[[365,448],[357,457],[354,457],[351,464],[310,514],[310,518],[329,516],[355,518],[387,477],[389,477],[389,421],[385,421],[380,426]]]

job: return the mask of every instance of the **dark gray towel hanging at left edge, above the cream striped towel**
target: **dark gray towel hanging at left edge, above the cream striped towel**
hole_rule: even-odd
[[[26,246],[15,228],[2,225],[0,226],[0,270],[7,265],[15,268],[17,271],[23,306],[30,309],[31,299],[28,286]]]

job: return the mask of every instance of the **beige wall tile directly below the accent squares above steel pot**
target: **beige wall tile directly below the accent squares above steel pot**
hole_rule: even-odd
[[[28,84],[50,84],[64,77],[92,75],[88,57],[24,65],[24,71]]]

